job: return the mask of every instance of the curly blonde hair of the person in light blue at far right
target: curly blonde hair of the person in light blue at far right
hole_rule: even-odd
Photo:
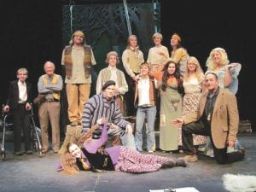
[[[223,67],[230,63],[225,49],[218,47],[218,48],[212,49],[212,51],[210,52],[210,55],[207,58],[207,63],[206,63],[207,70],[212,71],[217,67],[217,64],[212,60],[212,55],[216,52],[218,52],[221,55],[220,60],[221,60],[221,65]]]

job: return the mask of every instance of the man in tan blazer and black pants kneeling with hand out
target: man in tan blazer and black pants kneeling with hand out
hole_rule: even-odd
[[[242,160],[244,149],[227,153],[228,147],[235,146],[239,127],[236,96],[218,87],[218,76],[215,73],[206,74],[205,84],[208,91],[201,97],[198,112],[183,119],[172,120],[173,125],[183,125],[183,148],[189,151],[189,155],[184,158],[190,162],[198,160],[192,137],[192,134],[197,134],[211,138],[214,158],[218,164]]]

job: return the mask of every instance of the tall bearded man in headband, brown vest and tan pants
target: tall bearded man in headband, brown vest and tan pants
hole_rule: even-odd
[[[66,72],[68,119],[72,126],[81,125],[84,103],[90,96],[91,70],[96,61],[82,31],[73,32],[62,52],[61,64]]]

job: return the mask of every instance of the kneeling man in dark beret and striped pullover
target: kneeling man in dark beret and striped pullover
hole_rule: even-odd
[[[136,150],[133,129],[131,123],[123,119],[119,105],[115,101],[115,82],[107,81],[102,86],[102,92],[90,97],[84,105],[82,114],[83,133],[87,132],[92,125],[96,125],[98,120],[105,118],[108,120],[108,136],[120,136],[122,144]],[[92,139],[99,139],[102,135],[102,125],[93,132]]]

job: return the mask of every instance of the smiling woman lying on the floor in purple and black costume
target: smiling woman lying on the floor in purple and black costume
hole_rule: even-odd
[[[97,127],[94,126],[94,128]],[[90,129],[90,133],[94,131]],[[87,132],[88,133],[88,132]],[[160,168],[172,168],[173,166],[187,166],[183,159],[161,157],[153,154],[140,154],[123,146],[114,146],[101,149],[102,144],[108,141],[107,125],[103,125],[102,137],[88,142],[90,133],[85,134],[79,140],[80,148],[76,143],[68,143],[67,151],[61,154],[61,166],[59,172],[76,174],[79,171],[98,170],[122,171],[131,173],[155,172]]]

